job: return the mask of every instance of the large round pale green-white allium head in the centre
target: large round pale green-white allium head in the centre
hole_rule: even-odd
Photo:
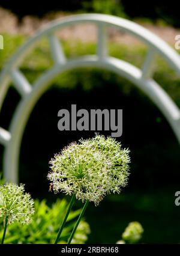
[[[78,200],[93,201],[97,206],[106,194],[119,193],[127,184],[128,153],[111,137],[81,139],[50,160],[47,177],[55,193],[75,194]]]

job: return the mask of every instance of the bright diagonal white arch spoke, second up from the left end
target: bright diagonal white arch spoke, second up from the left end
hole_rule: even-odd
[[[11,79],[22,97],[26,97],[32,91],[32,87],[22,72],[17,69],[11,71]]]

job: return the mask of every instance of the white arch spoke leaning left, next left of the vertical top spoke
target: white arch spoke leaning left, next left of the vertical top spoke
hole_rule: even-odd
[[[66,62],[66,58],[58,37],[54,34],[49,34],[48,38],[53,61],[55,64],[64,64]]]

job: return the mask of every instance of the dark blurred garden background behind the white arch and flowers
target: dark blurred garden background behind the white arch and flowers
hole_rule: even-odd
[[[0,68],[12,53],[50,20],[76,13],[106,13],[133,20],[159,35],[175,48],[180,34],[176,2],[169,1],[0,1],[0,34],[4,50],[0,51]],[[59,36],[67,56],[95,53],[92,25],[64,29]],[[138,40],[122,32],[109,31],[110,55],[141,67],[147,49]],[[180,52],[179,52],[180,53]],[[30,58],[31,57],[31,58]],[[38,61],[37,61],[38,57]],[[33,60],[35,59],[35,61]],[[52,66],[46,40],[38,44],[25,59],[23,73],[30,82]],[[180,79],[160,58],[155,63],[154,79],[170,94],[180,108]],[[20,96],[10,88],[0,118],[7,129]],[[133,84],[113,73],[98,69],[65,72],[53,82],[29,118],[20,153],[20,182],[33,198],[47,199],[50,205],[58,197],[48,192],[49,160],[65,145],[94,132],[60,132],[59,109],[123,109],[123,134],[118,138],[131,150],[131,175],[120,195],[107,196],[99,207],[90,204],[85,219],[91,227],[87,243],[115,243],[128,222],[139,221],[145,232],[143,243],[180,242],[179,210],[175,192],[180,189],[179,145],[169,124],[148,97]],[[104,135],[110,133],[103,132]],[[3,148],[0,147],[2,166]],[[82,205],[77,202],[74,209]]]

